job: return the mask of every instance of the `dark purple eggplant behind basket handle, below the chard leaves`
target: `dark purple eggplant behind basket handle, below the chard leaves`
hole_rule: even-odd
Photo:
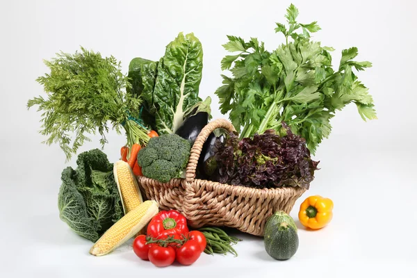
[[[202,131],[204,126],[206,126],[207,124],[208,113],[199,112],[193,116],[186,118],[186,120],[183,121],[181,126],[179,126],[179,129],[175,131],[175,134],[190,141],[191,145],[193,145],[200,131]]]

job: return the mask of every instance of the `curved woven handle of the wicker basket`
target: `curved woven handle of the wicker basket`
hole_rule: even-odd
[[[235,128],[231,122],[224,119],[218,119],[209,122],[206,126],[204,126],[204,129],[202,129],[202,131],[197,136],[197,139],[191,148],[190,159],[188,160],[188,165],[186,168],[186,182],[188,184],[193,183],[195,179],[195,170],[197,169],[199,155],[202,152],[204,142],[206,142],[208,136],[210,136],[210,133],[212,133],[215,129],[220,128],[226,129],[227,131],[235,131]]]

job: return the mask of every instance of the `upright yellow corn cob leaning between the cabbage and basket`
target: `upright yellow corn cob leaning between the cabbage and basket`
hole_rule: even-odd
[[[139,206],[142,202],[142,195],[140,194],[138,181],[133,175],[131,167],[124,161],[117,161],[113,166],[113,174],[119,188],[120,199],[122,199],[122,206],[124,213]]]

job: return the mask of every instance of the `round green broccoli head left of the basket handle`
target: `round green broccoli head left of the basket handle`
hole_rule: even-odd
[[[164,134],[151,138],[138,153],[138,164],[145,177],[161,182],[179,178],[183,174],[191,145],[177,134]]]

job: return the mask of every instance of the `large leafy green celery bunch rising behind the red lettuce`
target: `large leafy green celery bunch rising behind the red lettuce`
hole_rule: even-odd
[[[371,63],[353,60],[358,49],[351,47],[342,51],[340,65],[334,70],[330,54],[334,49],[311,41],[311,33],[320,26],[317,22],[300,24],[297,16],[298,10],[291,4],[287,26],[277,23],[275,28],[286,42],[272,52],[256,38],[245,42],[228,35],[224,49],[238,54],[222,59],[222,70],[230,70],[232,77],[222,75],[223,85],[215,93],[220,111],[230,112],[240,138],[267,129],[285,132],[282,122],[286,122],[314,153],[331,132],[330,119],[347,104],[356,104],[363,120],[377,118],[368,88],[354,74]]]

